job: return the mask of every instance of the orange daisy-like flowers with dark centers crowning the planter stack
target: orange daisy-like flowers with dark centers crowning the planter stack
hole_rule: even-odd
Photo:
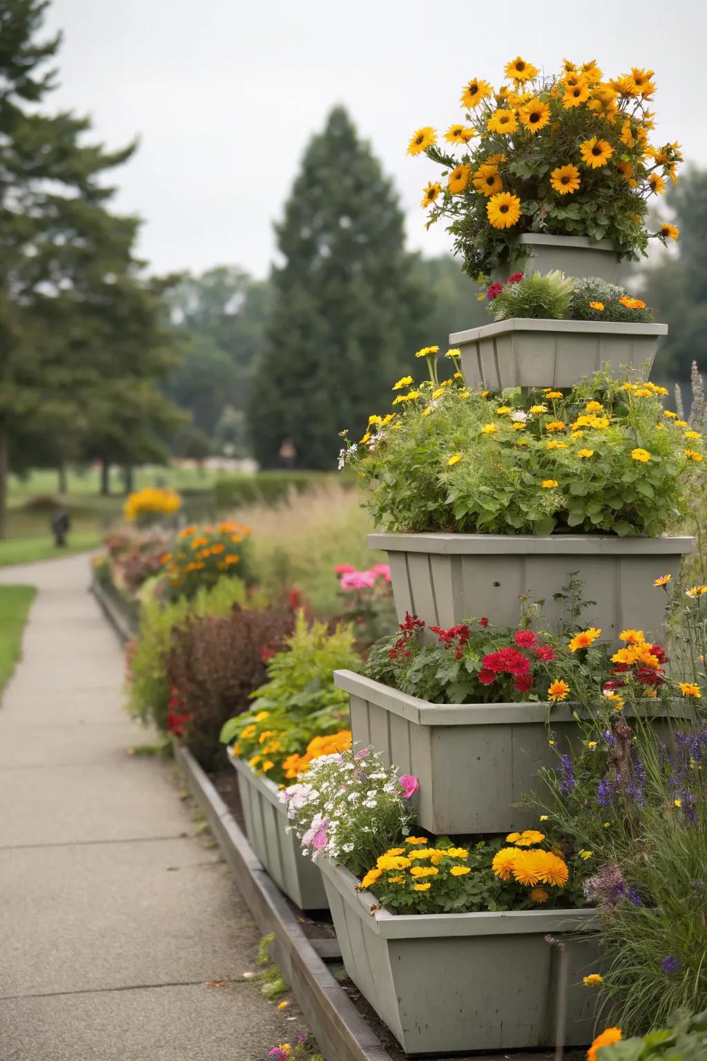
[[[489,225],[502,230],[515,226],[526,209],[540,210],[546,197],[588,189],[620,199],[639,229],[644,199],[661,195],[667,178],[676,182],[682,161],[679,144],[650,143],[654,72],[632,67],[630,73],[605,79],[594,59],[565,60],[558,76],[546,77],[517,56],[505,73],[510,84],[498,90],[477,77],[463,86],[466,120],[449,125],[444,134],[448,146],[438,144],[430,125],[419,128],[408,143],[408,155],[427,153],[447,172],[446,187],[430,181],[424,190],[423,207],[442,201],[432,220],[440,213],[455,215],[456,196],[482,195]],[[448,154],[454,146],[461,147],[461,159]],[[513,168],[515,162],[520,170]],[[601,181],[593,176],[599,173]],[[529,208],[516,194],[522,182]],[[638,213],[629,212],[632,204]],[[666,224],[653,234],[665,242],[677,239],[678,231]]]

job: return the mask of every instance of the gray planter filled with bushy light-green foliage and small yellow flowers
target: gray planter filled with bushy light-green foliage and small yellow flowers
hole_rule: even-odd
[[[657,632],[654,581],[694,547],[665,532],[704,467],[701,436],[664,411],[665,388],[599,372],[569,393],[494,395],[461,372],[438,381],[436,347],[419,355],[430,379],[399,380],[393,411],[370,417],[359,442],[344,433],[341,456],[370,486],[382,529],[369,543],[388,552],[400,620],[512,626],[530,595],[556,629],[571,618],[565,587],[583,582],[584,618],[606,637],[635,614]]]

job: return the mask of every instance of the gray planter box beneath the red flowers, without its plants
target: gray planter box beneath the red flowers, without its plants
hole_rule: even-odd
[[[552,748],[544,703],[429,703],[353,671],[335,671],[334,683],[349,693],[354,742],[420,781],[418,822],[429,833],[509,833],[536,825],[534,811],[513,804],[536,787],[541,767],[558,765],[558,750],[569,751],[579,740],[571,703],[552,713]],[[656,725],[670,743],[668,720]]]

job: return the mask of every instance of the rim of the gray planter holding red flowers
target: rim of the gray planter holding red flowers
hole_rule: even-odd
[[[544,724],[548,705],[537,700],[516,700],[513,703],[431,703],[409,693],[402,693],[392,685],[374,681],[355,671],[335,671],[334,684],[354,696],[361,696],[391,714],[400,715],[419,726],[511,726]],[[682,701],[678,701],[682,702]],[[585,711],[578,712],[576,705],[560,703],[550,714],[550,727],[555,723],[571,723],[577,715],[588,718]],[[626,708],[628,718],[635,711]],[[679,712],[658,711],[651,718],[692,719],[694,713],[689,705],[683,705]]]

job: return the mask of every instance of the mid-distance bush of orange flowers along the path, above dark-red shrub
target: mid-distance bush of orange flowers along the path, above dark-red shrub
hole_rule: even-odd
[[[164,573],[175,589],[184,592],[193,591],[196,584],[212,585],[241,562],[237,546],[249,535],[249,527],[231,520],[184,527],[177,535],[174,550],[162,557]]]

